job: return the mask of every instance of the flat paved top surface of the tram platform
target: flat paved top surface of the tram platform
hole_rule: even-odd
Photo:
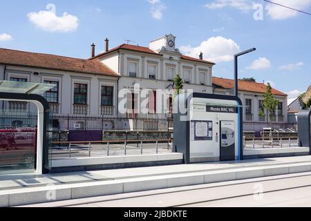
[[[155,177],[160,175],[178,175],[183,173],[200,173],[228,169],[245,169],[257,166],[277,166],[282,164],[301,164],[311,162],[311,155],[299,157],[278,157],[241,162],[209,162],[200,164],[178,164],[170,166],[150,166],[131,169],[113,169],[105,171],[84,171],[73,173],[54,173],[46,175],[0,175],[0,191],[27,189],[29,187],[48,186],[49,184],[77,184],[97,181],[122,180],[129,178]]]

